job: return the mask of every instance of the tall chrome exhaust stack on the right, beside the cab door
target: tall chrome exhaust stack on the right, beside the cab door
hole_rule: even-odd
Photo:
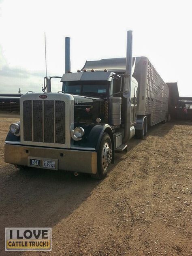
[[[123,142],[126,143],[130,138],[130,116],[131,116],[131,77],[132,77],[132,31],[127,31],[127,53],[126,53],[126,71],[124,76],[124,101],[125,101],[125,116],[124,126],[125,133]]]

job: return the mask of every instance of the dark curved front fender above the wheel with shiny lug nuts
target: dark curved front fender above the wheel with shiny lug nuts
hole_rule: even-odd
[[[102,139],[102,135],[104,132],[107,132],[111,138],[111,144],[112,144],[112,152],[113,157],[111,163],[114,163],[114,138],[113,138],[113,130],[111,129],[111,126],[109,124],[104,125],[96,125],[92,128],[90,131],[90,134],[88,136],[89,143],[92,147],[96,148],[96,151],[98,152],[99,145]]]

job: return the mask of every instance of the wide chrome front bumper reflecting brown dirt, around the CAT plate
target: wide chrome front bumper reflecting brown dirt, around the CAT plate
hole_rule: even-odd
[[[80,173],[97,172],[96,151],[5,144],[4,161],[6,163],[28,166],[30,157],[36,159],[57,159],[58,170]],[[43,168],[43,166],[38,166],[38,168]]]

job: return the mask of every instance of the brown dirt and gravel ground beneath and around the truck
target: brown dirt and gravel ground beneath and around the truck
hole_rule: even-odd
[[[52,227],[49,255],[192,255],[192,123],[169,122],[132,139],[109,177],[19,171],[4,163],[17,119],[0,117],[0,255],[5,227]]]

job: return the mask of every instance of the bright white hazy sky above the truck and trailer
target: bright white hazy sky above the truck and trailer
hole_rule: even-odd
[[[45,76],[64,73],[64,37],[71,37],[71,70],[86,60],[147,56],[165,82],[192,96],[190,0],[0,0],[0,93],[41,90]],[[56,89],[55,89],[56,90]],[[61,90],[61,85],[60,85]]]

